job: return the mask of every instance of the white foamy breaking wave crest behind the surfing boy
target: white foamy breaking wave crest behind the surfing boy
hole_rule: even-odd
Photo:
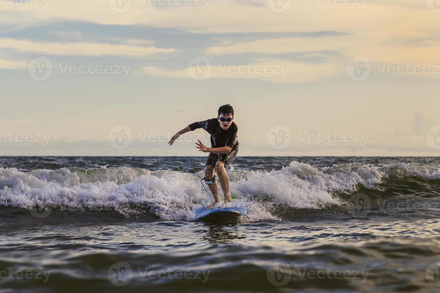
[[[354,192],[359,184],[375,188],[390,170],[437,179],[434,167],[405,164],[376,166],[332,166],[315,168],[291,162],[281,170],[228,170],[231,193],[245,205],[249,221],[275,219],[268,212],[274,203],[297,208],[322,208],[339,205],[335,192]],[[121,168],[62,168],[22,172],[0,168],[0,205],[32,208],[55,206],[65,209],[114,208],[126,216],[136,213],[130,205],[145,205],[165,220],[192,221],[200,206],[210,203],[200,179],[195,174],[170,170],[150,171]],[[139,212],[139,211],[138,211]]]

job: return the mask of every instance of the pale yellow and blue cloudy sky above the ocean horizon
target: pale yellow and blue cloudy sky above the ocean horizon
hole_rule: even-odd
[[[0,156],[438,156],[439,0],[0,0]]]

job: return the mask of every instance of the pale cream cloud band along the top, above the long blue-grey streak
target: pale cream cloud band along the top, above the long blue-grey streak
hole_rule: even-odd
[[[438,15],[429,11],[425,1],[419,0],[403,0],[398,3],[396,1],[367,2],[366,7],[362,5],[366,1],[348,1],[352,5],[335,5],[334,3],[341,2],[330,0],[292,1],[292,6],[284,13],[271,11],[264,0],[246,1],[248,5],[243,5],[245,1],[237,0],[208,1],[206,7],[202,4],[204,1],[187,1],[202,4],[200,6],[159,6],[150,5],[154,1],[133,0],[128,1],[130,6],[126,12],[116,13],[109,5],[115,1],[50,1],[47,9],[36,5],[4,5],[1,9],[5,16],[0,18],[0,23],[34,26],[60,20],[73,20],[101,24],[184,28],[189,32],[197,33],[322,31],[328,28],[338,31],[370,29],[380,32],[381,28],[385,27],[398,33],[399,31],[418,32],[423,29],[434,31],[433,28],[438,22]]]

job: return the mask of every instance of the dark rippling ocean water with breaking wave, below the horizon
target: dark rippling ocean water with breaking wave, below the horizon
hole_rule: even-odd
[[[439,158],[237,157],[238,224],[204,163],[0,157],[0,292],[439,291]]]

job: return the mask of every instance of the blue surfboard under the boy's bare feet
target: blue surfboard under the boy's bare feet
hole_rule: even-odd
[[[195,221],[215,221],[215,222],[230,222],[238,221],[241,216],[246,216],[248,210],[245,207],[230,206],[219,209],[213,207],[205,209],[202,206],[195,212]]]

